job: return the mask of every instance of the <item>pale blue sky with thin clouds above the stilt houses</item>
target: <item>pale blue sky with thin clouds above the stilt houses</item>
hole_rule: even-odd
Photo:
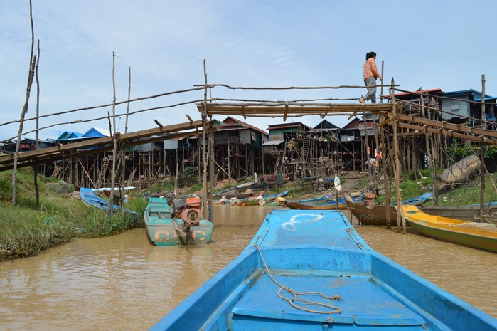
[[[495,13],[497,1],[336,0],[33,0],[33,29],[40,43],[39,113],[47,115],[111,104],[112,68],[116,101],[145,98],[204,83],[242,87],[363,85],[365,53],[384,63],[385,83],[403,90],[482,90],[497,95]],[[0,0],[0,124],[19,120],[26,101],[31,21],[28,0]],[[115,53],[115,57],[113,57]],[[36,116],[33,83],[26,118]],[[378,91],[379,92],[379,91]],[[300,100],[359,98],[361,90],[230,90],[216,87],[212,98]],[[386,90],[384,91],[386,94]],[[165,95],[130,105],[128,132],[200,120],[195,100],[204,91]],[[338,101],[335,101],[338,102]],[[357,103],[358,101],[347,101]],[[168,107],[187,103],[177,107]],[[109,129],[112,107],[40,120],[42,140],[64,131]],[[125,113],[117,105],[116,113]],[[224,120],[225,116],[215,116]],[[279,118],[237,117],[267,130]],[[289,118],[311,127],[321,117]],[[328,116],[338,127],[345,116]],[[116,120],[124,132],[124,117]],[[36,128],[33,120],[25,133]],[[0,140],[18,135],[18,123],[0,126]]]

